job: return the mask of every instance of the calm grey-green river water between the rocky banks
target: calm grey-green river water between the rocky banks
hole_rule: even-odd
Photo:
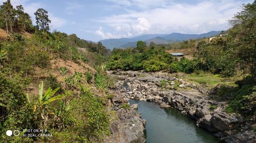
[[[196,126],[194,120],[175,108],[162,109],[153,102],[130,100],[146,119],[146,143],[215,143],[217,137]]]

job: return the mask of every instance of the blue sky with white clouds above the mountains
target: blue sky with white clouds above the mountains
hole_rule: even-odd
[[[0,0],[4,2],[5,0]],[[143,34],[201,34],[227,30],[228,20],[241,11],[242,0],[11,0],[23,5],[35,23],[34,12],[49,13],[51,31],[76,34],[97,42]]]

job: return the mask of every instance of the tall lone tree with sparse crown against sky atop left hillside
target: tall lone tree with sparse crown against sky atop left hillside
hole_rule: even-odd
[[[42,31],[49,31],[51,20],[48,18],[48,12],[45,9],[38,9],[35,13],[36,25]]]

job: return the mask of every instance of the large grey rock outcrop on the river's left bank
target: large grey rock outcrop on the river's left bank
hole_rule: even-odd
[[[129,104],[129,102],[121,93],[114,95],[110,103],[115,110],[110,123],[111,135],[105,137],[104,142],[144,143],[146,141],[144,135],[146,120],[142,120],[141,115],[136,112],[138,105],[133,104],[129,109],[124,109],[122,104]]]

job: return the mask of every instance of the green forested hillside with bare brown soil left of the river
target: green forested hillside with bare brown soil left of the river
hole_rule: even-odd
[[[51,33],[48,12],[34,14],[36,25],[22,5],[0,6],[0,142],[101,142],[110,134],[105,102],[112,80],[100,65],[110,50]],[[29,129],[47,135],[29,136],[36,133]]]

